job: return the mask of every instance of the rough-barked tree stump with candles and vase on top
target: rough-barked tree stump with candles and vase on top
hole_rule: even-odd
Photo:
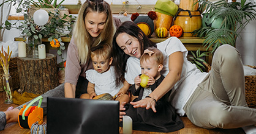
[[[43,94],[59,85],[57,57],[47,54],[45,59],[17,58],[22,92]]]

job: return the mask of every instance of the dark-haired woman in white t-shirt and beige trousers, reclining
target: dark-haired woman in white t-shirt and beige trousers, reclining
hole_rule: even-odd
[[[113,59],[118,77],[134,84],[135,77],[141,73],[140,57],[149,46],[155,45],[135,23],[122,23],[113,38]],[[157,112],[156,102],[172,90],[168,102],[176,113],[179,116],[186,113],[187,118],[199,127],[255,130],[256,109],[247,107],[243,64],[235,48],[228,44],[220,46],[214,53],[211,71],[206,73],[187,60],[187,49],[178,38],[170,37],[156,46],[164,54],[161,74],[165,78],[149,97],[130,102],[134,108],[151,108]],[[122,118],[126,108],[120,110]]]

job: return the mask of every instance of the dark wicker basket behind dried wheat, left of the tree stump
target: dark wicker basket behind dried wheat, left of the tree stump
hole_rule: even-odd
[[[18,66],[17,66],[17,58],[10,58],[9,62],[9,72],[10,76],[12,77],[12,89],[17,90],[20,88],[20,80],[18,77]],[[0,76],[2,77],[2,74],[4,74],[4,70],[2,69],[2,66],[0,66]],[[2,86],[2,80],[0,81],[0,91],[4,91],[4,88]]]

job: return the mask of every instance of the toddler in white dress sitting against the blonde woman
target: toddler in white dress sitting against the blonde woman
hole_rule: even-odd
[[[111,55],[111,46],[107,43],[100,43],[97,47],[91,48],[91,60],[94,69],[86,71],[88,79],[87,93],[82,94],[82,99],[92,99],[100,94],[109,93],[111,96],[117,96],[116,101],[129,102],[130,97],[127,94],[129,84],[124,80],[116,85],[115,68],[111,66],[113,57]],[[121,104],[121,103],[120,103]]]

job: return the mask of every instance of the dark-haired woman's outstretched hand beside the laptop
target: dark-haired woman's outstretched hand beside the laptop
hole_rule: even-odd
[[[144,107],[147,110],[151,108],[156,113],[156,102],[152,98],[146,97],[145,99],[137,102],[130,102],[130,104],[134,105],[134,108]]]

